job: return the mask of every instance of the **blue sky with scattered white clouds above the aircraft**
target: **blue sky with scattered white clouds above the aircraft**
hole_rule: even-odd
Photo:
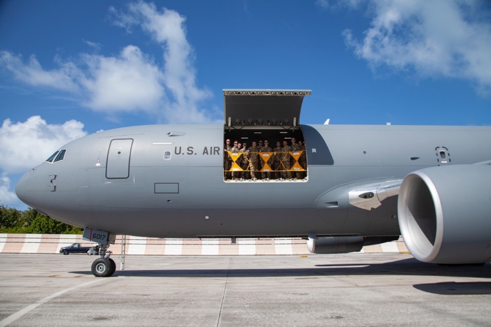
[[[86,134],[223,121],[224,88],[311,89],[300,123],[491,125],[472,0],[0,2],[0,204]]]

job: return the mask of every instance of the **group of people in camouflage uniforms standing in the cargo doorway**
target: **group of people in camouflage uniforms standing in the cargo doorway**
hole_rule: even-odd
[[[277,141],[276,147],[271,148],[266,139],[252,141],[247,147],[246,142],[230,139],[225,140],[224,146],[224,179],[225,180],[293,180],[304,179],[307,176],[307,156],[305,144],[295,137]],[[239,168],[240,167],[240,168]]]

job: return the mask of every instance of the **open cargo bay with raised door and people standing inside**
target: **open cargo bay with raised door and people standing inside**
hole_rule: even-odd
[[[310,90],[224,89],[223,180],[306,182],[299,124]]]

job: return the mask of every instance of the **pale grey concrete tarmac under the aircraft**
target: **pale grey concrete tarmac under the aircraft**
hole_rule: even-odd
[[[0,254],[0,326],[491,326],[491,264],[408,254]]]

